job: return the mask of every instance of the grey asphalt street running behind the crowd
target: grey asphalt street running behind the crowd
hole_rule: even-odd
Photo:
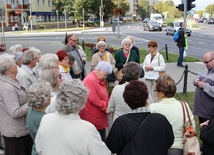
[[[202,59],[204,53],[214,49],[214,25],[199,24],[203,29],[192,29],[192,35],[188,37],[189,48],[187,54]],[[98,30],[98,31],[96,31]],[[96,38],[104,35],[107,38],[107,44],[120,47],[121,41],[127,35],[132,35],[135,38],[135,44],[139,48],[147,48],[149,40],[156,40],[158,42],[158,49],[163,49],[165,44],[168,46],[168,51],[178,53],[176,43],[172,40],[172,36],[165,34],[165,30],[157,32],[143,31],[142,22],[128,23],[120,26],[120,38],[117,32],[112,32],[111,27],[104,28],[104,30],[96,29],[82,31],[72,31],[67,33],[77,33],[80,41],[96,43]],[[21,34],[6,34],[7,50],[11,45],[21,44],[22,47],[35,46],[39,48],[42,53],[55,53],[63,46],[63,41],[66,32],[44,32],[44,33],[21,33]]]

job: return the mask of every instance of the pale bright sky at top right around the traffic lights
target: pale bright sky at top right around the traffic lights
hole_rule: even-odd
[[[175,5],[178,5],[181,3],[182,0],[173,0]],[[209,4],[214,4],[214,0],[195,0],[194,4],[196,4],[196,7],[194,9],[202,10],[205,9]]]

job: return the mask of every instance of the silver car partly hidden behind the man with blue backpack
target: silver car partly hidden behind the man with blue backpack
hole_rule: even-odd
[[[166,26],[165,33],[166,35],[174,35],[176,31],[179,30],[181,22],[169,22]],[[192,35],[192,30],[186,26],[186,34],[188,36]]]

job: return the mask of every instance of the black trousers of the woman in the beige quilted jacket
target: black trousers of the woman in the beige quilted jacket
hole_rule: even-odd
[[[5,155],[31,155],[33,140],[30,135],[23,137],[5,137]]]

